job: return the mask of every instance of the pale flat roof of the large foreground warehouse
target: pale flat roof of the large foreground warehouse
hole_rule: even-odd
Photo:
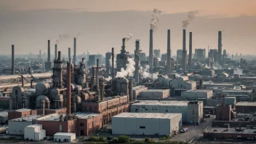
[[[172,119],[181,113],[120,113],[114,118],[149,118],[149,119]]]

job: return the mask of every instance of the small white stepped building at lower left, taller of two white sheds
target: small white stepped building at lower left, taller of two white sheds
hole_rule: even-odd
[[[45,130],[42,129],[41,124],[33,124],[24,128],[24,140],[44,140],[46,137]]]

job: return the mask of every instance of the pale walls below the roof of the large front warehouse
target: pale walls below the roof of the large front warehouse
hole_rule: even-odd
[[[151,118],[112,118],[112,133],[114,135],[171,135],[172,130],[179,130],[180,116],[172,119]]]

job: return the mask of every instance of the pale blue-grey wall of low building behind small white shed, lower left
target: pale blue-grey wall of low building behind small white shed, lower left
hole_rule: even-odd
[[[8,134],[9,135],[24,135],[24,128],[31,125],[32,121],[9,121]]]

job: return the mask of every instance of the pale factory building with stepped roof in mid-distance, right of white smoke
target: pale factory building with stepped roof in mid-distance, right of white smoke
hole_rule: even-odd
[[[188,76],[180,76],[172,79],[172,88],[175,89],[196,89],[196,81],[188,81]]]

